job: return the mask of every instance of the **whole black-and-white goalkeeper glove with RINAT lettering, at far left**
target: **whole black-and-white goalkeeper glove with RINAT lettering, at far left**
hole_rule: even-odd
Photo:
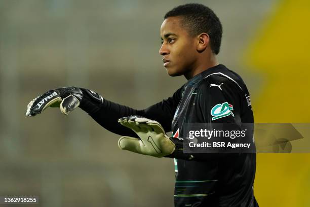
[[[101,108],[102,102],[101,95],[88,89],[57,88],[31,100],[27,106],[26,116],[41,114],[48,107],[60,107],[60,111],[65,115],[68,115],[76,107],[92,114]]]

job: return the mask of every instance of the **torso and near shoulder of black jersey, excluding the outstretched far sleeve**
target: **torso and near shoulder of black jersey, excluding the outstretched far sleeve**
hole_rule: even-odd
[[[228,105],[233,114],[212,113]],[[172,121],[174,137],[186,137],[185,123],[253,123],[249,92],[224,65],[190,79]],[[257,206],[253,195],[256,154],[204,154],[200,161],[175,158],[175,206]],[[201,161],[205,159],[205,161]]]

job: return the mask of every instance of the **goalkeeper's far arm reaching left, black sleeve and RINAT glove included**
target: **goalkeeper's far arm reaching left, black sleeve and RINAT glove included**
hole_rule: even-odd
[[[182,88],[172,97],[156,103],[144,110],[136,110],[127,106],[104,99],[100,94],[78,87],[64,87],[49,90],[29,102],[26,115],[36,116],[48,107],[59,107],[60,111],[68,115],[75,108],[80,107],[96,122],[107,130],[120,135],[137,135],[130,129],[118,123],[119,118],[139,115],[162,123],[166,131],[171,131],[174,112],[181,99]]]

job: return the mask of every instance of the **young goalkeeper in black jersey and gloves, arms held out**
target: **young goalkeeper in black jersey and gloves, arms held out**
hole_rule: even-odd
[[[67,87],[33,99],[26,115],[40,114],[49,106],[60,107],[68,115],[79,106],[104,128],[125,135],[119,140],[121,149],[174,158],[175,206],[258,206],[253,193],[255,153],[196,154],[182,150],[186,123],[240,126],[254,122],[246,85],[216,60],[222,37],[218,17],[200,4],[181,5],[165,15],[160,31],[160,54],[167,73],[184,75],[188,80],[168,99],[135,110],[94,91]],[[224,103],[229,106],[225,113],[215,113],[216,106],[223,112]],[[165,131],[172,131],[173,137],[167,137]]]

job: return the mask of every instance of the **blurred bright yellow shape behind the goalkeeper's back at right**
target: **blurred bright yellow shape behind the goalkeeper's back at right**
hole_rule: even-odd
[[[255,122],[310,122],[310,1],[280,1],[243,57],[262,78]],[[259,137],[255,137],[259,139]],[[260,206],[310,206],[310,154],[258,154]]]

